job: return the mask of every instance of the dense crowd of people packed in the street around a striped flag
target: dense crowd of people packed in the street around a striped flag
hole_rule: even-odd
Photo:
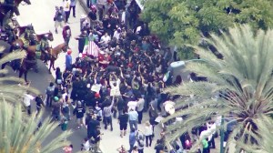
[[[70,5],[69,9],[68,6],[66,10],[64,7],[56,9],[54,18],[56,33],[57,27],[66,23],[63,37],[67,45],[71,31],[67,32],[70,30],[70,13],[66,12],[73,9],[76,16],[76,1],[68,1],[64,1],[64,7]],[[62,72],[56,68],[56,80],[45,91],[45,105],[43,97],[26,94],[25,107],[30,114],[30,99],[35,99],[38,112],[41,107],[50,107],[53,119],[60,122],[62,130],[67,129],[72,116],[75,116],[76,128],[87,129],[81,150],[92,149],[95,152],[100,152],[102,128],[113,131],[114,117],[118,120],[120,138],[128,135],[130,145],[129,148],[121,146],[117,151],[143,153],[145,148],[152,147],[154,128],[159,122],[157,117],[171,114],[164,106],[175,105],[177,97],[162,90],[182,82],[181,76],[173,81],[169,75],[170,64],[177,61],[177,55],[169,47],[161,46],[157,36],[150,34],[147,23],[139,19],[140,8],[135,0],[131,3],[125,0],[87,2],[90,12],[81,18],[81,35],[76,36],[79,53],[76,62],[72,63],[72,51],[68,49],[66,70]],[[86,41],[94,43],[94,51],[90,52]],[[147,113],[148,120],[143,120],[144,113]],[[142,124],[144,131],[138,128]],[[181,146],[184,149],[191,147],[187,134],[180,140],[182,144],[174,144],[170,152],[182,153]],[[204,145],[208,146],[206,142]],[[156,153],[167,151],[165,128],[153,145]],[[72,148],[70,145],[64,150],[71,152]]]

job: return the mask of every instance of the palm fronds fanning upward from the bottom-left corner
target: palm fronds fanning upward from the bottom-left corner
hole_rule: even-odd
[[[47,138],[58,126],[51,122],[49,117],[45,118],[42,126],[37,129],[41,119],[35,115],[27,117],[22,112],[20,104],[12,105],[1,97],[0,103],[0,152],[1,153],[50,153],[56,148],[69,144],[64,140],[72,131],[65,131],[55,139],[45,144]],[[42,145],[43,144],[43,145]]]

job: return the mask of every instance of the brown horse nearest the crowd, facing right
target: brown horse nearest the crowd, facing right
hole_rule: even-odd
[[[48,68],[49,74],[51,74],[51,71],[50,71],[51,67],[53,67],[53,70],[56,70],[55,65],[54,65],[55,61],[56,61],[56,58],[62,51],[66,52],[67,47],[68,46],[67,46],[66,43],[62,43],[62,44],[60,44],[60,45],[58,45],[58,46],[56,46],[54,48],[50,47],[50,49],[49,49],[50,65],[49,65],[49,68]]]

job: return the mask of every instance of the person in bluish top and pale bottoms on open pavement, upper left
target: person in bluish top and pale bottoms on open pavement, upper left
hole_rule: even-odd
[[[55,21],[55,32],[58,33],[58,27],[63,28],[65,26],[66,13],[64,11],[64,7],[60,6],[60,8],[56,7],[56,14],[54,16]]]

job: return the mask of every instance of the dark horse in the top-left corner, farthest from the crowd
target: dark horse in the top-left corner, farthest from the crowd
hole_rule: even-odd
[[[8,18],[10,18],[14,13],[15,15],[20,15],[20,12],[18,10],[18,5],[21,4],[21,2],[24,1],[27,5],[31,5],[30,0],[15,0],[15,4],[11,5],[11,4],[1,4],[0,5],[0,24],[4,25],[4,18],[5,15],[8,15],[8,12],[10,12],[10,16],[8,16]]]

